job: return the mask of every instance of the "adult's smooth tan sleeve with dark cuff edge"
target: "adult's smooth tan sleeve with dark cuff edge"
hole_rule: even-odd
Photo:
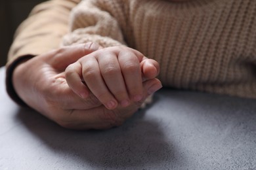
[[[20,61],[49,52],[60,46],[68,32],[70,11],[81,0],[51,0],[37,5],[30,16],[20,24],[9,50],[6,87],[10,97],[24,105],[12,86],[12,73]]]

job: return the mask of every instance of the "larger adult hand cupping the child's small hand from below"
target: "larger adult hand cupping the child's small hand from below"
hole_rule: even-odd
[[[14,69],[12,76],[14,89],[30,107],[62,127],[107,129],[119,126],[139,109],[148,95],[161,88],[160,80],[155,78],[155,75],[158,74],[158,68],[156,68],[156,72],[148,71],[148,75],[143,75],[144,81],[142,87],[139,87],[139,89],[142,88],[142,91],[139,91],[142,99],[139,101],[130,100],[126,107],[116,105],[112,109],[106,109],[100,101],[102,99],[99,100],[86,86],[87,82],[82,83],[83,90],[85,90],[83,92],[86,95],[77,95],[76,91],[68,85],[67,73],[65,73],[68,65],[99,48],[100,46],[95,43],[68,46],[20,63]],[[150,65],[150,67],[154,65],[147,60],[142,62],[142,65],[144,64]],[[142,68],[147,70],[150,67]],[[154,67],[158,67],[158,65]],[[81,82],[79,83],[81,84]],[[128,94],[130,96],[129,92]]]

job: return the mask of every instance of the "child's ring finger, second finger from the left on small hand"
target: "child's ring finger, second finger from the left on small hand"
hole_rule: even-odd
[[[86,62],[83,62],[83,79],[91,92],[102,102],[108,109],[114,109],[117,101],[110,93],[100,73],[98,61],[93,56],[87,56]]]

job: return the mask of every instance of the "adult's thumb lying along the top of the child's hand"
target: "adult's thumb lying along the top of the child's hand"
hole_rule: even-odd
[[[98,49],[102,48],[96,42],[87,42],[85,44],[75,44],[72,46],[64,46],[57,50],[54,50],[48,63],[59,71],[64,71],[68,65],[77,61],[77,59],[90,54]]]

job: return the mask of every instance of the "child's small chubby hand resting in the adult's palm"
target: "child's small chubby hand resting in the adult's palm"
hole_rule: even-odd
[[[132,101],[140,101],[143,97],[142,78],[155,78],[158,73],[159,65],[153,59],[132,48],[113,46],[97,50],[69,65],[66,80],[82,98],[91,91],[107,109],[115,109],[118,103],[127,107]]]

